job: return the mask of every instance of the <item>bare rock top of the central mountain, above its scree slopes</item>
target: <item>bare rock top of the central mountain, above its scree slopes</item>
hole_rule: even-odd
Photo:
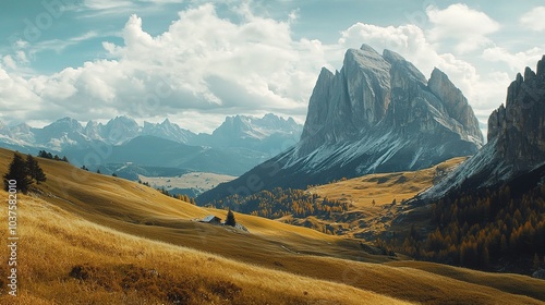
[[[301,137],[307,144],[299,152],[358,137],[384,122],[400,129],[414,122],[431,131],[439,120],[462,138],[482,145],[473,110],[445,73],[435,69],[427,81],[402,56],[391,50],[379,54],[363,45],[347,50],[340,73],[320,71]]]

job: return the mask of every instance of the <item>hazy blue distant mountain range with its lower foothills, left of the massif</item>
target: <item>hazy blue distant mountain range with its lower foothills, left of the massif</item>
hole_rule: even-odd
[[[195,134],[168,119],[140,126],[131,118],[118,117],[106,124],[89,121],[83,126],[64,118],[43,129],[0,124],[0,146],[33,154],[47,149],[93,170],[116,163],[119,167],[106,167],[116,171],[132,162],[240,175],[295,144],[301,132],[302,125],[293,119],[270,113],[228,117],[211,134]]]

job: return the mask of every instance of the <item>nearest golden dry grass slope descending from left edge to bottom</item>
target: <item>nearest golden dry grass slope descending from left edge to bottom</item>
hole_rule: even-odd
[[[119,233],[38,198],[21,196],[19,206],[21,304],[161,304],[178,296],[187,304],[403,304],[344,284]],[[0,213],[7,213],[5,205]],[[5,241],[5,225],[0,232]],[[74,272],[76,266],[83,271]],[[5,274],[5,266],[0,268]],[[3,295],[0,303],[15,302]]]

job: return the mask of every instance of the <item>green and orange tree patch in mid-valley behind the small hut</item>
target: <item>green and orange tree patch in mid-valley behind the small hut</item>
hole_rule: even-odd
[[[215,208],[231,208],[244,213],[266,217],[270,219],[292,215],[296,218],[316,216],[330,219],[334,213],[341,213],[349,209],[349,204],[339,200],[320,198],[303,190],[276,187],[272,191],[240,196],[229,196],[222,200],[208,204]]]

